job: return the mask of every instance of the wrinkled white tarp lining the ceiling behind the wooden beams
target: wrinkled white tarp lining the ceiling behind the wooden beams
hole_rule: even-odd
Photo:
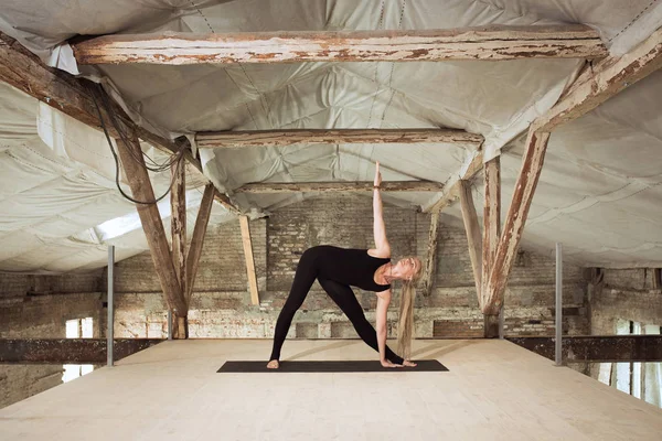
[[[18,37],[52,64],[73,69],[75,64],[67,55],[66,46],[58,45],[76,34],[441,29],[578,22],[598,30],[612,53],[622,53],[659,28],[661,17],[662,7],[650,0],[126,0],[84,3],[4,0],[0,10],[0,30]],[[502,216],[505,216],[521,162],[521,133],[531,120],[555,103],[581,64],[576,60],[521,60],[104,65],[87,68],[84,73],[104,78],[107,87],[119,92],[126,105],[139,112],[141,121],[162,132],[450,127],[481,133],[485,137],[483,147],[489,152],[503,147],[510,149],[502,158]],[[652,75],[553,133],[524,234],[525,246],[545,251],[551,250],[555,241],[563,241],[566,252],[587,266],[662,266],[659,209],[662,198],[661,78],[660,73]],[[15,151],[20,149],[15,147],[26,142],[25,138],[47,146],[47,137],[46,143],[42,141],[43,137],[36,138],[39,142],[34,138],[36,127],[44,125],[44,118],[36,118],[35,114],[43,111],[35,110],[35,105],[32,110],[23,109],[22,126],[14,127],[12,107],[30,105],[21,105],[17,93],[6,89],[2,92],[0,132],[3,142],[8,138],[7,142],[13,143],[13,148],[6,151],[18,154]],[[30,118],[32,126],[26,122]],[[35,119],[39,122],[34,122]],[[92,222],[94,216],[88,216],[85,207],[78,212],[67,208],[67,213],[77,214],[68,214],[66,220],[60,216],[57,223],[53,220],[44,227],[50,235],[68,238],[66,235],[84,230],[88,224],[98,225],[130,211],[130,205],[113,191],[111,180],[108,180],[107,168],[114,164],[109,162],[105,141],[102,138],[81,140],[77,135],[70,138],[84,143],[85,149],[96,152],[94,154],[107,157],[86,163],[87,174],[95,178],[79,180],[71,170],[76,165],[68,163],[65,166],[57,162],[57,168],[50,160],[32,154],[23,161],[31,166],[53,169],[49,169],[50,178],[43,179],[56,178],[57,182],[46,185],[47,193],[40,193],[40,178],[26,172],[28,165],[15,160],[0,162],[9,181],[21,181],[34,187],[34,200],[44,200],[47,195],[51,201],[51,206],[43,201],[35,202],[30,211],[25,205],[30,198],[21,196],[20,203],[24,204],[28,214],[14,214],[7,205],[2,213],[4,229],[0,240],[17,240],[15,232],[25,236],[25,241],[38,240],[41,236],[26,229],[21,216],[53,216],[56,207],[68,206],[66,195],[78,192],[90,202],[94,198],[99,206],[94,213],[98,218]],[[57,148],[51,149],[49,154],[57,155]],[[220,190],[232,195],[234,189],[247,182],[371,180],[375,160],[384,165],[385,180],[445,182],[471,154],[458,146],[442,144],[301,144],[285,149],[203,150],[201,159],[205,174]],[[79,159],[72,161],[78,163]],[[104,175],[104,170],[106,181],[96,176],[96,173]],[[21,173],[30,175],[30,180],[26,175],[21,178]],[[157,183],[157,193],[159,189],[162,186]],[[61,196],[52,194],[56,190]],[[4,192],[4,187],[0,191]],[[476,193],[476,203],[482,204],[480,184]],[[266,211],[305,196],[233,195],[245,209]],[[58,202],[61,198],[62,203]],[[396,193],[387,195],[386,200],[402,206],[427,206],[433,202],[427,193]],[[120,204],[122,213],[113,211],[114,204]],[[105,211],[107,217],[102,219]],[[459,216],[455,207],[448,213]],[[54,258],[56,248],[44,252]],[[35,262],[32,268],[57,270],[49,267],[52,263],[42,263],[38,256],[23,256],[21,262],[28,266],[32,262],[30,259]],[[7,266],[6,261],[0,261],[0,269],[20,267]],[[97,259],[94,265],[103,263]]]

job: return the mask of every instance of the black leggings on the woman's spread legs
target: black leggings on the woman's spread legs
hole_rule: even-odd
[[[297,266],[297,272],[295,273],[295,281],[290,293],[278,315],[276,322],[276,330],[274,332],[274,348],[271,349],[271,356],[269,359],[280,359],[280,348],[287,336],[287,332],[292,323],[295,313],[301,304],[314,279],[318,279],[324,291],[333,299],[333,301],[340,306],[342,312],[350,319],[354,329],[359,333],[359,336],[373,349],[380,352],[377,345],[377,333],[375,329],[370,324],[363,314],[363,309],[352,289],[343,283],[339,283],[333,280],[323,279],[318,277],[318,269],[314,263],[312,255],[305,252],[299,260]],[[397,356],[388,346],[386,346],[386,358],[395,364],[402,364],[403,358]]]

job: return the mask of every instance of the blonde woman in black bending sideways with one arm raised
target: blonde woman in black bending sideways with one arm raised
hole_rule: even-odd
[[[398,351],[401,353],[404,351],[406,356],[409,353],[414,325],[414,283],[420,275],[421,263],[417,257],[404,258],[395,265],[391,262],[391,246],[386,239],[386,229],[382,216],[381,183],[382,174],[377,162],[373,189],[375,248],[344,249],[319,246],[307,249],[301,256],[290,293],[276,322],[274,348],[267,364],[268,368],[276,369],[279,367],[280,348],[292,318],[303,303],[316,279],[350,319],[361,338],[380,353],[382,366],[416,366],[415,363],[403,359],[386,346],[386,312],[391,303],[391,282],[403,280],[398,322]],[[365,319],[363,309],[350,286],[376,292],[376,332]]]

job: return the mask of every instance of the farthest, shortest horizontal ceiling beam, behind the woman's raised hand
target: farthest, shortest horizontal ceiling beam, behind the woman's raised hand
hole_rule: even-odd
[[[438,192],[444,184],[424,181],[382,182],[383,192]],[[373,182],[264,182],[244,184],[235,193],[372,192]]]

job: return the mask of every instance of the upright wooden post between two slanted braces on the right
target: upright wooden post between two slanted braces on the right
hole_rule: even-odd
[[[487,304],[487,299],[489,298],[487,288],[490,269],[494,261],[499,236],[501,235],[501,158],[496,157],[487,162],[484,168],[485,200],[483,206],[482,286],[479,299],[483,314],[485,313],[483,305]],[[485,314],[483,330],[485,338],[499,336],[499,314]]]

